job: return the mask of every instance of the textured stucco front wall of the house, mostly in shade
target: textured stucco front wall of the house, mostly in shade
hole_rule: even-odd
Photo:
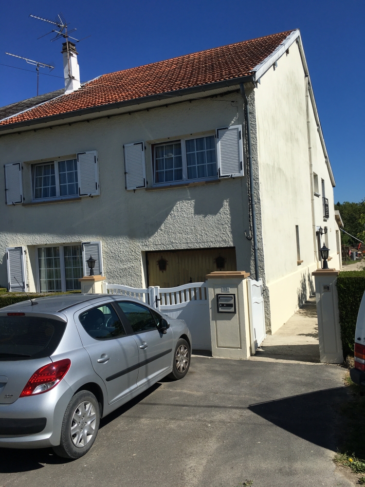
[[[225,101],[222,101],[225,100]],[[233,103],[234,102],[234,103]],[[0,137],[1,163],[21,161],[25,203],[31,202],[31,163],[97,150],[100,196],[35,206],[5,206],[0,212],[0,285],[7,285],[5,247],[26,245],[30,290],[35,290],[32,245],[101,240],[109,282],[145,283],[141,252],[158,249],[236,246],[237,269],[250,270],[246,174],[203,187],[126,191],[123,144],[145,141],[148,186],[151,146],[167,137],[213,131],[244,123],[239,93],[192,100],[148,112],[124,114]],[[238,107],[238,108],[237,108]],[[0,172],[0,187],[4,187]]]

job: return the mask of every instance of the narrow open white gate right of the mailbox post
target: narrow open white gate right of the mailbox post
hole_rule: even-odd
[[[251,351],[254,354],[266,337],[262,279],[247,279],[248,305],[251,328]]]

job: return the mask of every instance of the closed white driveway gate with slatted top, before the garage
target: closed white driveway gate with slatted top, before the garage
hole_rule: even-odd
[[[148,289],[103,283],[103,293],[137,299],[170,318],[183,319],[189,327],[194,349],[212,349],[208,289],[205,282],[169,288],[150,286]]]

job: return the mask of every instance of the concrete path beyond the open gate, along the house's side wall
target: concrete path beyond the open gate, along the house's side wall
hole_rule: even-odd
[[[315,298],[306,301],[274,335],[268,335],[255,357],[319,362]]]

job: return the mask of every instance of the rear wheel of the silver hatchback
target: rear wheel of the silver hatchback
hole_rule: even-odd
[[[63,458],[82,457],[91,449],[99,423],[100,409],[94,394],[89,391],[76,393],[63,417],[60,444],[53,450]]]

